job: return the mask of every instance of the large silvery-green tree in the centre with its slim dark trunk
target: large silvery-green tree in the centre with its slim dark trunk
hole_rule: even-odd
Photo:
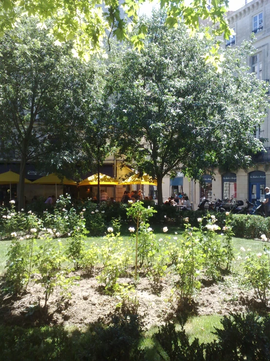
[[[157,179],[161,204],[162,178],[175,169],[202,180],[217,166],[248,167],[247,155],[263,149],[253,131],[267,102],[265,83],[247,72],[251,42],[220,50],[219,74],[203,58],[212,40],[190,38],[181,23],[168,29],[159,13],[147,26],[140,53],[112,54],[109,79],[119,155]]]

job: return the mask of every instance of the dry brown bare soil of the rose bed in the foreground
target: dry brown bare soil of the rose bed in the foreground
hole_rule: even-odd
[[[77,275],[80,275],[77,272]],[[105,319],[116,311],[118,299],[106,295],[104,287],[97,283],[96,277],[80,275],[79,286],[71,288],[71,299],[63,308],[57,307],[58,292],[51,295],[48,310],[44,314],[37,305],[44,304],[44,289],[34,282],[28,287],[27,293],[20,297],[2,297],[0,299],[0,323],[6,325],[40,325],[61,324],[82,328],[100,319]],[[171,289],[176,281],[174,274],[168,274],[161,283],[159,290],[154,290],[147,277],[140,277],[137,285],[139,299],[138,314],[144,315],[146,328],[163,323],[179,310],[175,299],[168,302]],[[132,278],[121,278],[120,283],[132,283]],[[255,308],[269,311],[254,297],[253,291],[244,289],[237,276],[224,276],[218,283],[204,280],[201,291],[194,298],[193,315],[227,315],[229,312],[245,312]],[[35,311],[37,308],[37,311]],[[34,312],[35,311],[35,312]]]

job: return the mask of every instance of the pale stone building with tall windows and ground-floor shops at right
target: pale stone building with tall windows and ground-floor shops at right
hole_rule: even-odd
[[[258,79],[270,79],[270,0],[253,0],[240,9],[228,13],[227,20],[234,29],[235,35],[224,43],[224,47],[240,45],[244,40],[249,40],[251,33],[255,35],[254,47],[256,52],[249,57],[248,64],[251,72]],[[194,209],[205,196],[208,199],[231,197],[238,200],[249,199],[256,203],[257,199],[264,199],[264,188],[270,186],[270,114],[265,119],[262,127],[254,130],[257,138],[268,139],[264,145],[266,152],[254,157],[254,167],[248,170],[238,170],[221,174],[216,169],[214,177],[209,174],[204,176],[205,186],[189,181],[182,177],[178,180],[194,203]],[[173,188],[171,180],[171,189]]]

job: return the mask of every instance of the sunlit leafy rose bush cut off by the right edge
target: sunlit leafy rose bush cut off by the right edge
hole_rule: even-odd
[[[270,290],[270,260],[269,247],[265,248],[263,254],[257,255],[249,253],[244,262],[243,282],[252,286],[255,294],[263,303],[267,302],[267,291]]]

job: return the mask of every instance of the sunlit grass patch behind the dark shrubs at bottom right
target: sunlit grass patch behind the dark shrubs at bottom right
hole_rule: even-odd
[[[185,330],[189,336],[190,341],[195,338],[199,339],[199,342],[207,343],[216,340],[216,337],[212,334],[215,331],[214,327],[222,328],[220,323],[220,315],[207,315],[198,316],[188,319]]]

